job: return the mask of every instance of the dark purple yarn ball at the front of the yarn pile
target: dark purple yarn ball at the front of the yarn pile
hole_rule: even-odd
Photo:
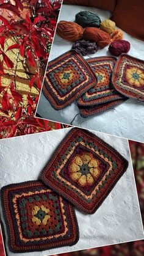
[[[95,42],[90,42],[86,40],[77,40],[72,48],[76,53],[82,54],[82,56],[85,56],[87,54],[93,54],[98,51],[98,46]]]

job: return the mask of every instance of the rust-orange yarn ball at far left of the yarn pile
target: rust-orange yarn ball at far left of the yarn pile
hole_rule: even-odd
[[[71,21],[60,21],[57,24],[56,34],[70,42],[81,39],[83,32],[84,29],[79,24]]]

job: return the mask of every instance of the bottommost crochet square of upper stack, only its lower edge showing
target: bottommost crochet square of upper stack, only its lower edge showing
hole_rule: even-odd
[[[81,113],[82,117],[89,117],[90,115],[95,115],[100,112],[104,112],[110,108],[114,108],[115,106],[118,106],[119,104],[123,103],[126,100],[114,100],[110,101],[104,104],[98,104],[92,107],[79,107],[79,111]]]

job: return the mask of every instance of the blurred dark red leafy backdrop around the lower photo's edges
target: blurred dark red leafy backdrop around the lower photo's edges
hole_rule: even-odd
[[[129,141],[142,221],[144,223],[144,144]],[[0,234],[0,256],[4,256]],[[61,256],[143,256],[144,240],[60,254]],[[57,256],[57,255],[53,255]]]

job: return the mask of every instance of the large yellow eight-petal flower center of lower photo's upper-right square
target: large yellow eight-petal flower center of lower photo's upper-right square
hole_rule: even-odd
[[[93,185],[99,175],[99,162],[90,153],[74,157],[70,164],[70,177],[80,186]]]

